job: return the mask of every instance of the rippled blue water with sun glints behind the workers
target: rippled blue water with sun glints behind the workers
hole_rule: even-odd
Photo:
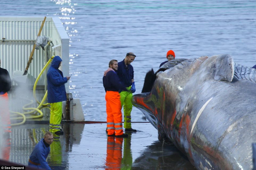
[[[244,66],[256,64],[255,1],[0,1],[1,16],[58,16],[70,38],[70,91],[80,98],[85,120],[105,121],[103,72],[127,52],[136,92],[144,76],[166,60],[230,54]],[[29,9],[29,10],[28,10]],[[133,108],[132,121],[147,121]]]

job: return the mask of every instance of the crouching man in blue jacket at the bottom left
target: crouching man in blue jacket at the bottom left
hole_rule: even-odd
[[[53,135],[51,132],[46,132],[44,138],[41,139],[34,147],[28,159],[28,166],[36,167],[38,169],[51,170],[46,158],[50,152],[50,145],[53,142]]]

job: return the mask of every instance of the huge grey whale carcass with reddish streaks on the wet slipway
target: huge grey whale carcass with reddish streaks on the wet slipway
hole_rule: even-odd
[[[145,77],[133,105],[200,170],[253,168],[256,70],[230,55],[167,62]]]

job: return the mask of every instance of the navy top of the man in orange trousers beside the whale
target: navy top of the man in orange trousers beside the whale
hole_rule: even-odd
[[[108,71],[106,76],[103,76],[102,81],[105,91],[119,91],[119,89],[127,91],[115,71]]]

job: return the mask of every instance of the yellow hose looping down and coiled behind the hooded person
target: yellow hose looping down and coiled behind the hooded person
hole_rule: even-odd
[[[22,109],[23,109],[23,110],[32,110],[32,111],[23,112],[23,113],[10,111],[10,113],[14,113],[14,114],[18,114],[18,115],[22,116],[22,117],[13,117],[13,115],[11,115],[11,116],[10,116],[10,117],[12,117],[12,118],[10,118],[11,120],[14,120],[14,119],[15,119],[15,120],[23,119],[22,122],[11,124],[11,126],[22,125],[22,124],[25,123],[25,121],[26,121],[27,119],[35,119],[35,118],[43,117],[43,112],[42,112],[41,110],[39,110],[39,108],[40,108],[41,106],[47,106],[47,105],[49,104],[49,103],[44,103],[44,104],[43,104],[43,102],[45,101],[45,99],[46,99],[46,97],[47,97],[47,90],[46,90],[46,93],[44,94],[44,97],[43,97],[43,99],[42,99],[41,102],[39,102],[38,99],[36,98],[35,90],[36,90],[36,85],[37,85],[37,83],[38,83],[39,78],[41,77],[41,75],[43,74],[43,72],[44,72],[44,70],[47,68],[47,66],[51,63],[53,57],[54,57],[54,56],[52,56],[51,59],[48,60],[48,62],[46,63],[46,65],[44,66],[44,68],[42,69],[42,71],[39,73],[38,77],[36,78],[34,87],[33,87],[33,95],[34,95],[34,98],[35,98],[36,102],[39,104],[38,107],[37,107],[37,108],[34,108],[34,107],[28,107],[28,108],[26,108],[28,105],[34,103],[34,101],[31,100],[31,103],[25,104],[25,105],[22,107]],[[25,114],[31,114],[31,113],[33,113],[33,112],[35,112],[35,111],[39,112],[39,115],[36,115],[36,116],[27,116],[27,117],[25,116]]]

